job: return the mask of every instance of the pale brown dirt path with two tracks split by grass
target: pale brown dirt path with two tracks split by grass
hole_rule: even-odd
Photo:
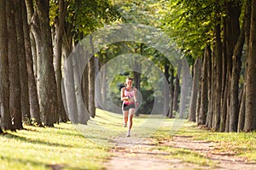
[[[163,150],[156,150],[156,145],[152,139],[119,136],[113,139],[113,143],[115,145],[111,150],[113,156],[104,164],[107,170],[256,169],[255,163],[247,163],[245,160],[234,156],[231,150],[227,152],[216,152],[215,150],[218,149],[217,143],[195,141],[190,137],[174,136],[172,141],[163,141],[162,144],[172,148],[183,148],[199,152],[201,156],[218,162],[218,167],[201,167],[178,159],[162,159],[162,156],[168,156],[170,154]]]

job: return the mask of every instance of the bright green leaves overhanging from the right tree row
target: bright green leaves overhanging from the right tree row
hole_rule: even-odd
[[[201,57],[207,43],[214,40],[213,29],[224,15],[222,1],[167,1],[162,28],[177,42],[183,53]]]

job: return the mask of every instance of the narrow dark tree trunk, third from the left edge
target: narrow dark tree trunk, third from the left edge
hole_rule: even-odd
[[[15,25],[17,32],[17,44],[18,44],[18,55],[20,59],[20,105],[22,113],[22,121],[31,124],[31,115],[29,111],[29,95],[28,95],[28,76],[26,68],[26,52],[25,52],[25,41],[24,41],[24,31],[23,31],[23,22],[27,22],[22,18],[22,10],[25,10],[26,6],[22,5],[24,1],[16,1],[15,6]],[[24,20],[24,21],[23,21]]]

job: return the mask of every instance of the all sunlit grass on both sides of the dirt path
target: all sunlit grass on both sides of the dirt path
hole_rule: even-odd
[[[103,162],[111,156],[111,140],[125,136],[122,116],[108,111],[96,111],[96,118],[88,126],[70,123],[55,127],[25,127],[26,130],[0,135],[0,169],[103,169]],[[183,125],[183,126],[181,126]],[[157,150],[184,162],[214,167],[215,163],[192,150],[172,148],[160,142],[172,140],[173,134],[194,139],[218,142],[218,150],[230,150],[236,156],[256,161],[256,133],[215,133],[195,123],[165,119],[163,116],[140,115],[134,118],[132,135],[137,138],[151,136],[158,141]]]

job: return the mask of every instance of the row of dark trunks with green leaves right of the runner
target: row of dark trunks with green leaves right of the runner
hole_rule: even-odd
[[[195,59],[189,120],[220,132],[256,129],[256,1],[168,3],[163,28]]]

